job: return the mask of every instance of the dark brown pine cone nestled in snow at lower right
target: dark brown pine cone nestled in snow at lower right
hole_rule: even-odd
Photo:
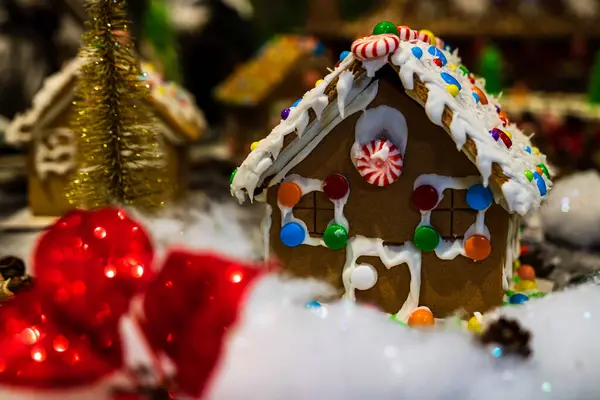
[[[500,317],[487,327],[478,340],[484,346],[498,345],[505,355],[513,354],[527,358],[531,355],[530,339],[531,334],[523,329],[517,320]]]

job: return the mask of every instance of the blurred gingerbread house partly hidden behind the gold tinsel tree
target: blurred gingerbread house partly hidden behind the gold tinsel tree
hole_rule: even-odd
[[[70,119],[82,63],[81,59],[74,59],[46,79],[32,107],[17,115],[6,131],[7,142],[29,146],[28,197],[30,211],[35,216],[60,216],[71,208],[64,193],[75,168],[76,138]],[[144,75],[140,79],[151,85],[148,101],[165,139],[168,177],[175,183],[173,196],[176,196],[186,186],[188,144],[204,132],[204,117],[184,89],[164,82],[150,64],[142,64],[142,69]]]

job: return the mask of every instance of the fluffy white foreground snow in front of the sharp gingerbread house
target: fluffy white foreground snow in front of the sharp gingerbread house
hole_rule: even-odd
[[[597,399],[600,288],[501,311],[532,332],[531,359],[496,359],[459,328],[405,328],[374,309],[304,303],[308,281],[263,279],[229,338],[210,399]]]

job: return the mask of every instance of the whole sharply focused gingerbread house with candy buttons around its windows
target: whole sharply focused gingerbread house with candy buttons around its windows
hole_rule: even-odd
[[[521,217],[552,184],[545,156],[441,47],[378,24],[231,182],[266,202],[265,249],[287,271],[402,318],[499,306]]]

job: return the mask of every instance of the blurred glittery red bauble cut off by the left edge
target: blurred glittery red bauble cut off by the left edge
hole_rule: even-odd
[[[30,388],[91,384],[121,366],[118,341],[99,341],[61,318],[39,287],[0,307],[0,383]]]

